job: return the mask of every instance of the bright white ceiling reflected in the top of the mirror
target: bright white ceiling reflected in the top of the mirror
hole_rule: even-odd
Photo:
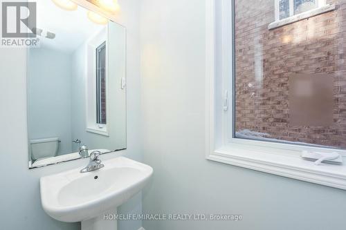
[[[104,28],[86,16],[87,10],[78,6],[75,11],[63,10],[51,0],[37,0],[37,28],[42,29],[40,46],[62,52],[75,51],[86,39]],[[45,37],[53,32],[55,39]]]

